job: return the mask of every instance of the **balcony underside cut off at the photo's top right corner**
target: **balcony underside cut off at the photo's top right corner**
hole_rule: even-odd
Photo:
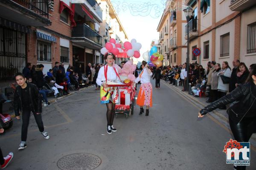
[[[251,6],[256,4],[256,0],[231,0],[230,2],[231,11],[244,11]]]

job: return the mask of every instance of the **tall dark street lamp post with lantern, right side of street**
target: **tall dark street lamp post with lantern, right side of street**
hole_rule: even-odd
[[[183,9],[183,12],[184,12],[184,14],[186,16],[186,20],[187,20],[186,90],[189,92],[189,18],[190,18],[190,16],[192,16],[192,8],[188,6],[187,8]]]

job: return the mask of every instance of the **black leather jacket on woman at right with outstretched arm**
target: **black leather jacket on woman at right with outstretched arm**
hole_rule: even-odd
[[[230,94],[223,96],[221,99],[211,103],[210,105],[203,108],[200,113],[205,115],[208,112],[220,108],[221,106],[233,103],[227,110],[230,118],[238,124],[241,119],[246,116],[252,107],[256,105],[256,93],[253,92],[253,82],[248,82],[244,85],[239,85]]]

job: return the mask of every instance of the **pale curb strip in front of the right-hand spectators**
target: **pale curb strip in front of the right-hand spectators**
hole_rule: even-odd
[[[163,80],[161,80],[165,85],[167,85],[168,87],[170,87],[172,90],[174,90],[175,92],[177,92],[178,94],[180,94],[180,96],[185,97],[186,99],[188,99],[190,102],[192,102],[192,104],[198,106],[199,108],[204,108],[206,106],[206,104],[202,103],[201,101],[199,101],[197,98],[191,96],[188,94],[188,92],[186,91],[186,93],[183,93],[182,91],[180,91],[179,88],[177,88],[176,86],[173,85],[169,85],[168,83],[164,82]],[[219,123],[221,123],[222,125],[224,125],[224,127],[226,127],[228,130],[230,130],[230,126],[229,126],[229,120],[226,116],[223,116],[221,113],[219,113],[218,111],[212,111],[213,114],[211,114],[210,116],[212,116],[213,118],[217,119],[217,121]],[[231,130],[230,130],[231,132]],[[253,145],[256,147],[256,135],[253,134],[250,138],[250,140],[253,143]]]

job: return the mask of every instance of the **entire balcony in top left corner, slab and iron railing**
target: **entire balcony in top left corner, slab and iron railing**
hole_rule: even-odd
[[[0,0],[0,16],[24,26],[49,26],[48,0]]]

